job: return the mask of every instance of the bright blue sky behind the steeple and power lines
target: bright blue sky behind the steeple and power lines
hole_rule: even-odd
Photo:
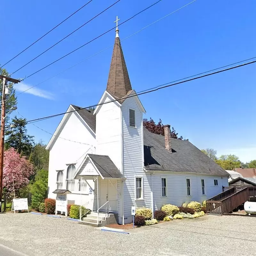
[[[57,3],[58,2],[58,3]],[[4,1],[0,63],[5,63],[86,1]],[[8,63],[14,72],[52,44],[81,26],[115,0],[93,0],[38,43]],[[24,78],[154,3],[121,0],[37,60],[13,75]],[[120,39],[132,35],[190,1],[162,0],[119,26]],[[132,87],[137,92],[186,76],[256,56],[256,2],[202,1],[188,5],[140,33],[124,40],[122,48]],[[114,30],[17,85],[19,91],[38,84],[113,45]],[[96,104],[106,89],[112,48],[18,95],[18,111],[28,120],[65,112],[69,104]],[[214,148],[218,155],[256,159],[256,64],[172,86],[140,96],[147,114],[171,124],[196,147]],[[61,117],[37,122],[53,133]],[[33,124],[28,132],[46,143],[51,135]]]

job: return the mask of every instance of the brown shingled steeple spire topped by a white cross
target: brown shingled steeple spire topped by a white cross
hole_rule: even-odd
[[[127,94],[127,92],[132,90],[132,85],[118,35],[119,30],[117,28],[117,21],[118,19],[116,17],[116,38],[108,75],[107,91],[115,95],[117,98],[122,98]]]

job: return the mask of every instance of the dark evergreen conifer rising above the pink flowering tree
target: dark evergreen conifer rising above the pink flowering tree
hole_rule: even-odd
[[[5,148],[15,148],[21,156],[29,157],[34,146],[34,136],[27,133],[26,119],[15,116],[12,123],[15,128],[7,128],[6,135],[8,138],[5,140]]]

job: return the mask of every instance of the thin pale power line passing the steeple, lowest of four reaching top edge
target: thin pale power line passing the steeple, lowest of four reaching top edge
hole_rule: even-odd
[[[141,32],[142,30],[144,30],[145,28],[148,28],[149,26],[155,24],[156,22],[158,22],[158,21],[160,21],[160,20],[163,20],[164,18],[168,17],[169,15],[171,15],[171,14],[173,14],[173,13],[175,13],[175,12],[178,12],[179,10],[183,9],[184,7],[186,7],[186,6],[188,6],[189,4],[192,4],[192,3],[194,3],[194,2],[196,2],[196,0],[194,0],[194,1],[190,2],[190,3],[188,3],[188,4],[183,5],[182,7],[180,7],[179,9],[177,9],[177,10],[175,10],[175,11],[173,11],[173,12],[170,12],[169,14],[165,15],[164,17],[162,17],[162,18],[160,18],[160,19],[158,19],[158,20],[156,20],[156,21],[150,23],[150,24],[147,25],[146,27],[141,28],[141,29],[138,30],[137,32],[133,33],[133,34],[130,35],[130,36],[125,37],[124,39],[122,39],[122,40],[120,40],[120,41],[123,42],[124,40],[130,38],[131,36],[134,36],[134,35],[140,33],[140,32]],[[76,63],[75,65],[73,65],[73,66],[71,66],[71,67],[69,67],[69,68],[67,68],[67,69],[65,69],[65,70],[60,71],[58,74],[47,78],[46,80],[44,80],[44,81],[42,81],[42,82],[40,82],[40,83],[38,83],[38,84],[36,84],[36,85],[34,85],[34,86],[28,88],[27,90],[25,90],[25,91],[23,91],[23,92],[27,92],[28,90],[30,90],[30,89],[36,87],[37,85],[43,84],[44,82],[46,82],[46,81],[52,79],[53,77],[60,75],[61,73],[63,73],[63,72],[65,72],[65,71],[69,70],[70,68],[74,68],[76,65],[81,64],[81,63],[84,62],[85,60],[88,60],[88,59],[90,59],[90,58],[92,58],[92,57],[98,55],[99,53],[106,51],[107,49],[109,49],[110,47],[113,47],[113,46],[114,46],[114,44],[108,46],[107,48],[101,50],[100,52],[97,52],[97,53],[91,55],[90,57],[88,57],[88,58],[86,58],[86,59],[84,59],[84,60],[82,60],[82,61]],[[237,62],[237,63],[238,63],[238,62]],[[236,64],[236,63],[233,63],[233,64]],[[210,71],[208,71],[208,72],[210,72]],[[23,92],[20,92],[19,94],[17,94],[17,96],[20,95],[20,94],[23,93]]]

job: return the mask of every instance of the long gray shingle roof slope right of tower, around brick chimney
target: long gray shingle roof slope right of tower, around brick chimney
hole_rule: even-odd
[[[169,153],[165,149],[164,136],[143,128],[146,170],[228,175],[224,169],[188,140],[171,139],[172,153]]]

